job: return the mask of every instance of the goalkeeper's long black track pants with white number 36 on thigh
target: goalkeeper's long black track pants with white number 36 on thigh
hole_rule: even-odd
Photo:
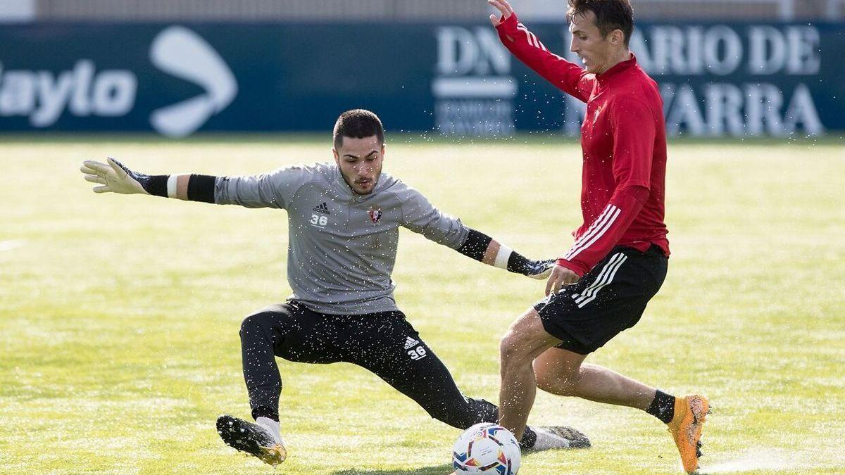
[[[297,363],[357,364],[458,429],[496,421],[497,407],[461,394],[449,370],[398,311],[329,315],[296,301],[272,305],[243,320],[241,347],[254,418],[278,418],[278,356]]]

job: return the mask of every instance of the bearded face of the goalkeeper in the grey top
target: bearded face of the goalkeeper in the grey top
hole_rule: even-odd
[[[357,194],[373,193],[384,161],[384,144],[379,142],[379,137],[344,137],[341,147],[332,151],[335,152],[335,163],[341,168],[341,175],[350,188]]]

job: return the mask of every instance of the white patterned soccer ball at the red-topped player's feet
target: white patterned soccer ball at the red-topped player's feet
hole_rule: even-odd
[[[495,423],[477,423],[466,429],[452,449],[452,467],[458,473],[516,475],[520,460],[514,434]]]

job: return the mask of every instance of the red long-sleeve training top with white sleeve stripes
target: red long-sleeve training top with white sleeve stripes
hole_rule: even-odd
[[[616,245],[669,255],[664,190],[666,126],[657,83],[636,57],[602,74],[549,52],[516,14],[499,24],[505,47],[570,96],[586,102],[581,126],[581,214],[575,243],[558,264],[583,276]]]

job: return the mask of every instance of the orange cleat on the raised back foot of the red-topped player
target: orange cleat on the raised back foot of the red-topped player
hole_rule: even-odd
[[[701,429],[710,403],[705,396],[685,396],[675,398],[675,413],[669,425],[669,433],[678,445],[684,471],[694,473],[698,470],[698,458],[701,457]]]

